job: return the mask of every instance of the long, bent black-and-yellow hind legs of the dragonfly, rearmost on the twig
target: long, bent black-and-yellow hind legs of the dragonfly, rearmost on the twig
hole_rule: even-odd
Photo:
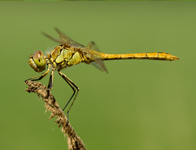
[[[73,106],[75,100],[76,100],[76,97],[78,95],[78,92],[79,92],[79,87],[73,82],[71,81],[65,74],[63,74],[62,72],[60,72],[60,70],[58,70],[58,73],[59,75],[69,84],[69,86],[72,88],[73,90],[73,94],[72,96],[70,97],[70,99],[68,100],[67,104],[65,105],[65,107],[62,109],[63,111],[65,110],[65,108],[67,107],[67,105],[71,102],[71,100],[73,99],[72,103],[71,103],[71,106],[69,107],[68,111],[67,111],[67,118],[68,118],[68,121],[69,122],[69,111],[71,110],[71,107]],[[75,95],[75,96],[74,96]]]

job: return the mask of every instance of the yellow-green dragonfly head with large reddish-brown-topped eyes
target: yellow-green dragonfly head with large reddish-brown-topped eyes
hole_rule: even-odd
[[[46,56],[41,51],[36,51],[33,55],[29,56],[29,65],[36,72],[45,70],[46,67]]]

